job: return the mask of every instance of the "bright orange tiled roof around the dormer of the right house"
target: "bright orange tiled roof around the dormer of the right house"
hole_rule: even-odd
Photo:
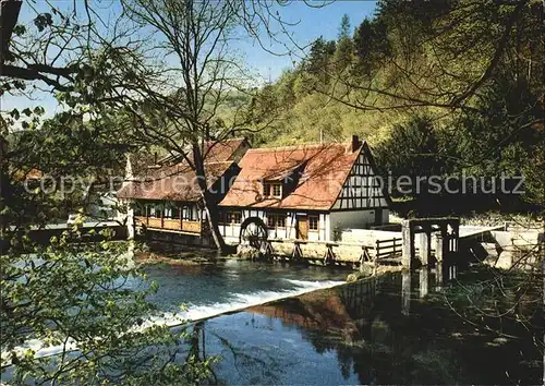
[[[241,171],[220,206],[328,210],[361,150],[351,144],[256,148],[240,161]],[[263,181],[296,171],[296,186],[282,198],[263,198]]]

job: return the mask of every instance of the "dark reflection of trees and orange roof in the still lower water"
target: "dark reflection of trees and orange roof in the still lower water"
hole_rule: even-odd
[[[353,371],[362,384],[531,379],[521,371],[521,358],[516,358],[519,350],[530,357],[535,352],[531,339],[493,349],[488,342],[494,336],[463,324],[439,298],[423,299],[441,288],[441,281],[427,270],[412,276],[403,273],[249,311],[296,324],[318,353],[336,352],[346,379]],[[514,359],[509,361],[509,357]],[[509,378],[506,373],[519,373],[521,378]],[[538,376],[538,372],[533,374]]]

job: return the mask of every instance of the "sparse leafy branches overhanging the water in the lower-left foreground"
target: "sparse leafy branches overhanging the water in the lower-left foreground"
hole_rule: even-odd
[[[2,373],[14,365],[10,382],[187,381],[185,364],[175,361],[186,334],[149,324],[160,315],[146,299],[157,286],[134,267],[126,243],[101,236],[101,242],[80,244],[77,231],[64,232],[48,246],[34,245],[33,253],[23,238],[25,253],[0,256]],[[48,348],[56,353],[38,351]],[[209,375],[206,364],[192,367],[201,377]]]

